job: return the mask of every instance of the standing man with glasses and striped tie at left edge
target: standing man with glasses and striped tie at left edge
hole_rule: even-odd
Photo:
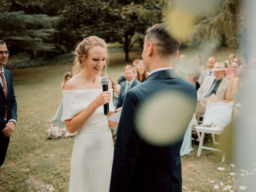
[[[10,136],[17,123],[17,103],[12,75],[10,71],[4,69],[9,54],[5,42],[0,40],[0,167],[4,163]]]

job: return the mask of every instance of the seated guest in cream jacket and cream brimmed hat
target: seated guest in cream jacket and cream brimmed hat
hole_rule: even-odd
[[[215,94],[218,101],[225,101],[228,88],[228,80],[224,77],[225,70],[224,62],[216,62],[214,68],[212,68],[214,76],[207,76],[204,79],[204,82],[197,90],[198,105],[196,107],[196,114],[204,114],[206,107],[206,103],[202,102],[200,98],[208,98],[212,94]]]

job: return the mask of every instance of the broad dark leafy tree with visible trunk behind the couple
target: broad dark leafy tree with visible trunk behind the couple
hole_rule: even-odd
[[[149,10],[161,13],[154,0],[76,0],[60,11],[64,19],[61,27],[77,34],[79,39],[97,35],[107,42],[119,42],[128,61],[129,51],[140,39],[138,34],[152,25],[152,20],[139,16]]]

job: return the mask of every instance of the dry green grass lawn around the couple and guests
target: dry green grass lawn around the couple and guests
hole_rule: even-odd
[[[227,58],[235,50],[220,50],[217,59]],[[181,54],[193,55],[192,50],[181,50]],[[124,53],[110,49],[108,75],[117,80],[127,62]],[[141,53],[132,52],[130,58],[141,58]],[[46,130],[48,120],[54,115],[62,98],[60,83],[62,74],[70,71],[72,63],[38,66],[11,70],[18,102],[18,124],[11,137],[6,160],[1,168],[0,191],[28,192],[26,180],[33,178],[51,184],[56,192],[67,192],[70,176],[70,159],[74,138],[48,140]],[[209,143],[210,144],[210,143]],[[229,172],[235,172],[228,162],[220,162],[220,154],[203,150],[196,157],[198,143],[194,151],[182,157],[184,191],[211,192],[214,184],[222,181],[238,191]],[[225,171],[217,171],[221,166]],[[215,180],[215,183],[210,183]]]

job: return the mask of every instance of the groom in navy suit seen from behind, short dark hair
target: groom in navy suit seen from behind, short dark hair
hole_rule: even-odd
[[[110,192],[182,191],[180,148],[183,138],[166,146],[155,146],[138,135],[134,122],[140,118],[140,106],[164,90],[180,91],[188,96],[192,103],[191,118],[196,109],[196,89],[172,68],[180,42],[174,40],[168,30],[165,24],[156,24],[146,31],[142,58],[150,75],[126,94],[114,150]]]

